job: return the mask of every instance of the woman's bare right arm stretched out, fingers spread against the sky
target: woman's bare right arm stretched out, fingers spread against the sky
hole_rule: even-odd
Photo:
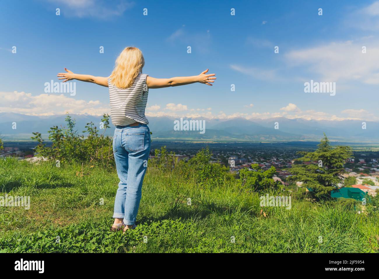
[[[206,74],[208,72],[208,69],[206,69],[204,72],[199,74],[198,76],[191,76],[191,77],[172,77],[171,79],[155,79],[154,77],[148,76],[146,79],[147,87],[149,88],[163,88],[163,87],[170,87],[170,86],[179,86],[179,85],[186,85],[191,84],[195,82],[204,83],[207,85],[211,85],[210,82],[215,82],[216,74]]]

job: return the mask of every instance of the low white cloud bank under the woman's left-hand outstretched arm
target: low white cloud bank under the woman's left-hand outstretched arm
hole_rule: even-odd
[[[40,94],[32,96],[25,92],[0,92],[0,111],[27,115],[56,115],[66,112],[75,114],[102,115],[110,113],[108,104],[100,101],[84,101],[64,94]]]

